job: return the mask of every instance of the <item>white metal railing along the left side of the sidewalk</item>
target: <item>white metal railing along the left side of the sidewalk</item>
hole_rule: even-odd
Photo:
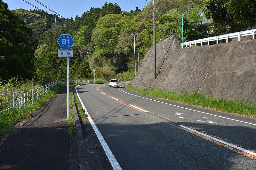
[[[28,91],[19,91],[19,92],[12,92],[1,94],[0,97],[4,98],[2,100],[7,100],[0,103],[0,113],[7,111],[12,108],[20,107],[21,109],[25,109],[26,107],[31,106],[35,103],[38,99],[45,95],[45,93],[52,89],[53,86],[59,83],[65,83],[66,80],[58,80],[52,81],[51,83],[38,87],[36,89],[28,90]],[[2,108],[4,108],[2,110]]]

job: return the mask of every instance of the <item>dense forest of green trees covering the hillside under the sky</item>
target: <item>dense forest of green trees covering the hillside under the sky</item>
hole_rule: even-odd
[[[148,1],[147,1],[148,2]],[[237,32],[256,23],[255,1],[250,0],[156,0],[156,43],[172,35],[184,40]],[[206,20],[208,22],[203,22]],[[56,18],[56,22],[55,22]],[[210,27],[211,26],[211,27]],[[231,29],[227,29],[230,27]],[[0,0],[0,82],[20,75],[40,83],[67,76],[67,59],[58,57],[61,34],[74,39],[70,79],[111,78],[134,75],[133,33],[140,61],[153,45],[153,4],[144,9],[121,11],[118,4],[92,7],[75,19],[63,19],[39,10],[10,11]],[[88,62],[89,61],[89,62]],[[138,64],[138,63],[137,63]],[[122,73],[122,72],[125,72]]]

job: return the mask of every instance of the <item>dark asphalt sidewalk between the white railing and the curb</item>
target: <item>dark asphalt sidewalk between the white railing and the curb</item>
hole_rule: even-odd
[[[69,135],[67,86],[0,143],[0,169],[79,169],[76,134]]]

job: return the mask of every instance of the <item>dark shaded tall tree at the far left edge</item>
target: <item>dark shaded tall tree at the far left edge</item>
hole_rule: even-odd
[[[35,76],[31,60],[33,42],[31,29],[25,26],[8,5],[0,1],[0,78],[8,80],[16,74],[24,79]]]

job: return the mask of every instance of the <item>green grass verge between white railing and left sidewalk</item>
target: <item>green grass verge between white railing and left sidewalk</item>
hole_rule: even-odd
[[[16,108],[0,113],[0,135],[10,132],[14,124],[29,118],[31,115],[33,115],[33,113],[41,109],[42,105],[45,102],[49,101],[50,98],[54,97],[57,94],[58,88],[60,86],[62,86],[62,84],[57,84],[51,90],[49,90],[44,95],[44,97],[42,97],[34,104],[32,104],[30,107],[24,110]]]

